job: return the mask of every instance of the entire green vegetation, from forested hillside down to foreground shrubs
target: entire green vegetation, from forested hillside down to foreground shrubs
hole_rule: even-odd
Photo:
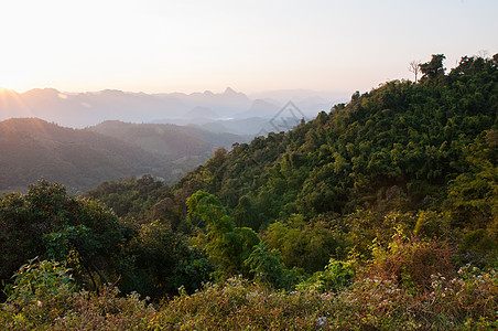
[[[173,185],[4,194],[0,324],[495,330],[498,54],[444,58]]]

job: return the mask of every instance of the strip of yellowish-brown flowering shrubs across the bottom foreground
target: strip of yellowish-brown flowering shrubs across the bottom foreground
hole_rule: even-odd
[[[359,276],[347,288],[277,291],[234,277],[206,284],[193,295],[182,291],[154,309],[138,295],[118,297],[112,288],[72,292],[74,288],[64,282],[69,279],[64,267],[42,261],[25,268],[9,301],[0,305],[0,325],[15,330],[492,330],[498,325],[496,270],[464,266],[453,277],[432,274],[426,288],[413,291],[393,278],[369,275],[370,265],[358,267]],[[34,275],[43,280],[26,281]]]

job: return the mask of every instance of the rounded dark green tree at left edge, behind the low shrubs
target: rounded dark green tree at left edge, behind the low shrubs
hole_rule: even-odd
[[[68,196],[63,185],[42,179],[24,195],[0,199],[0,239],[2,279],[40,256],[74,261],[95,282],[93,273],[105,281],[101,271],[111,268],[123,236],[111,211],[91,199]]]

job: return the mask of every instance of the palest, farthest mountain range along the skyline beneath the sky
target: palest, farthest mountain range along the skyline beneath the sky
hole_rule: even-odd
[[[96,93],[63,93],[53,88],[17,93],[0,88],[0,120],[36,117],[72,128],[95,126],[106,120],[198,125],[217,132],[253,136],[289,100],[313,118],[329,110],[347,95],[312,90],[279,90],[247,96],[229,87],[224,93],[144,94],[106,89]],[[258,118],[259,120],[255,120]],[[250,119],[245,126],[243,120]],[[242,125],[240,125],[242,124]],[[238,128],[243,128],[238,130]]]

